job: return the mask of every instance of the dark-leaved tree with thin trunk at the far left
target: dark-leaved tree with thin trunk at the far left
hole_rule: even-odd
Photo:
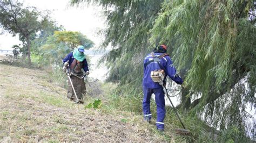
[[[34,7],[23,8],[23,4],[15,0],[0,2],[0,24],[4,30],[14,35],[19,34],[19,39],[27,47],[29,64],[31,39],[47,24],[48,15],[49,12],[43,14]]]

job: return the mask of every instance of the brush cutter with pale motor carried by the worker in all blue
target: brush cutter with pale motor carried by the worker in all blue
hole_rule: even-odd
[[[181,125],[183,126],[183,128],[177,128],[175,129],[176,133],[178,134],[181,134],[181,135],[190,135],[190,130],[187,130],[186,127],[184,126],[183,122],[181,121],[180,117],[179,117],[179,113],[177,112],[176,108],[174,107],[172,101],[171,101],[171,98],[167,92],[167,89],[165,88],[164,86],[164,77],[165,77],[165,72],[164,70],[160,69],[160,70],[154,70],[154,71],[151,71],[151,78],[154,82],[158,82],[162,87],[163,87],[163,90],[164,90],[164,93],[166,94],[167,98],[169,99],[171,105],[172,105],[172,108],[174,110],[174,112],[176,113]]]

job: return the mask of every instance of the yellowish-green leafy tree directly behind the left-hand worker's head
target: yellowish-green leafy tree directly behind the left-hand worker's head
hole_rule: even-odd
[[[33,40],[35,52],[42,66],[61,66],[62,59],[73,50],[74,46],[86,45],[86,48],[93,46],[93,42],[80,32],[53,31],[56,29],[62,28],[53,25],[53,28],[43,31],[37,39]]]

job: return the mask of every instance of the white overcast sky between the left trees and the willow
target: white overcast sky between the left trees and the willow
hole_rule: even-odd
[[[95,5],[83,6],[83,8],[74,8],[68,6],[69,0],[25,0],[25,6],[35,6],[41,10],[51,10],[51,17],[59,25],[63,25],[68,31],[80,31],[95,42],[96,47],[102,41],[97,34],[98,30],[104,28],[104,19],[100,15],[100,8]],[[18,37],[12,37],[11,34],[5,33],[0,35],[0,48],[10,49],[13,45],[21,41]]]

